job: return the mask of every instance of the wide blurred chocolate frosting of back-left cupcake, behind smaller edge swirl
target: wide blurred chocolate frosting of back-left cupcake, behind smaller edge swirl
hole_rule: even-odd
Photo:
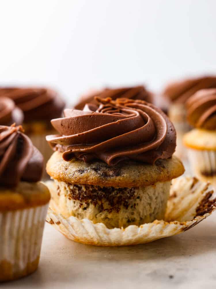
[[[45,120],[60,117],[64,101],[54,90],[47,88],[0,88],[0,96],[9,97],[24,113],[24,121]]]

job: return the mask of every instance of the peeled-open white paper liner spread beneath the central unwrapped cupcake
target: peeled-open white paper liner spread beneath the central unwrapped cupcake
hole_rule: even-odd
[[[46,183],[50,193],[55,194],[55,184]],[[88,219],[64,217],[58,213],[58,204],[51,199],[46,221],[70,240],[97,246],[126,246],[144,244],[160,238],[173,236],[197,225],[216,207],[214,191],[209,184],[198,179],[182,177],[173,180],[164,220],[108,229],[103,223],[93,224]]]

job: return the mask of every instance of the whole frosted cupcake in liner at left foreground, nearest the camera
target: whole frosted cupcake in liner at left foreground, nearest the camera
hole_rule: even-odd
[[[0,126],[0,281],[37,269],[49,190],[43,157],[21,126]]]

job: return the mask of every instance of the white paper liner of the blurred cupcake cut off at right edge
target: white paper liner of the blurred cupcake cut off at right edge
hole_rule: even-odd
[[[187,149],[187,155],[193,174],[216,186],[216,151]]]

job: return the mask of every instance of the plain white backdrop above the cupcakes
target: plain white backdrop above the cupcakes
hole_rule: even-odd
[[[88,88],[215,73],[216,1],[0,1],[0,85]]]

